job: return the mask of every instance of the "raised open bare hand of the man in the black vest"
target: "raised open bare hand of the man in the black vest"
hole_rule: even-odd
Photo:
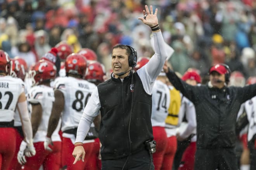
[[[143,10],[143,15],[144,17],[139,17],[138,19],[141,20],[144,24],[150,27],[156,26],[158,24],[157,8],[154,14],[152,5],[150,5],[150,11],[147,5],[145,5],[145,10]]]

